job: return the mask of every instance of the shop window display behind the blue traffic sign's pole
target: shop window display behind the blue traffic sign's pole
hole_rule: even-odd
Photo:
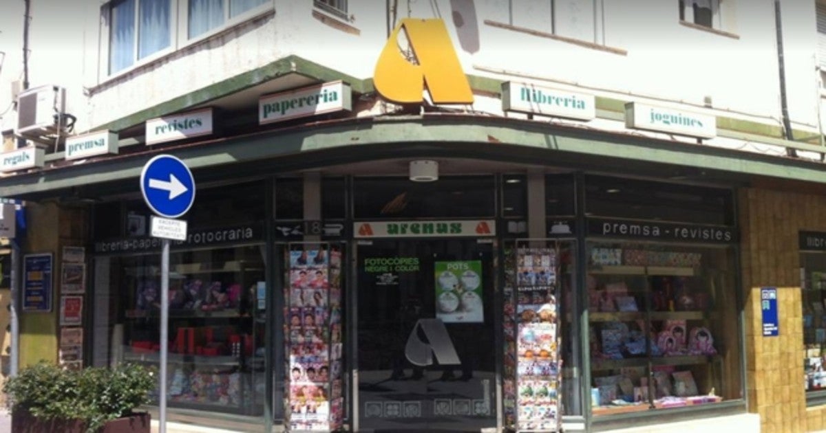
[[[169,407],[263,411],[263,250],[225,247],[170,254]],[[121,292],[120,359],[159,362],[158,255],[115,259]],[[157,396],[155,396],[157,398]]]

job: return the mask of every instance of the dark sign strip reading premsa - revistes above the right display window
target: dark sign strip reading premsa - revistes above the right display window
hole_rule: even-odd
[[[737,233],[730,227],[626,219],[588,219],[588,235],[674,242],[737,242]]]

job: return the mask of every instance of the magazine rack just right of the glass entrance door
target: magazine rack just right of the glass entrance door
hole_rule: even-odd
[[[558,335],[559,250],[552,239],[520,239],[506,257],[506,427],[559,431],[562,360]]]

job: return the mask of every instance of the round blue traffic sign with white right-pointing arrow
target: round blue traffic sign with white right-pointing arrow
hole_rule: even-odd
[[[140,192],[155,214],[178,218],[195,201],[195,179],[189,167],[172,155],[158,155],[140,172]]]

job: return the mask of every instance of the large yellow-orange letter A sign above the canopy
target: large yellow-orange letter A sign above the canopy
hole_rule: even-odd
[[[402,30],[415,55],[415,64],[399,49]],[[473,103],[468,77],[444,21],[438,18],[404,18],[399,22],[379,54],[373,85],[384,99],[399,104],[420,104],[425,90],[434,104]]]

